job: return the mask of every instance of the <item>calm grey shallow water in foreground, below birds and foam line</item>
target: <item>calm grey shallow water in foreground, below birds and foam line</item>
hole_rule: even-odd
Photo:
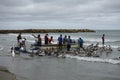
[[[19,80],[119,80],[120,65],[54,57],[0,57]]]

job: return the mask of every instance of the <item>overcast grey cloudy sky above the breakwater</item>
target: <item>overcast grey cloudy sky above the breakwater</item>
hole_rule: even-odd
[[[120,29],[120,0],[0,0],[0,29]]]

